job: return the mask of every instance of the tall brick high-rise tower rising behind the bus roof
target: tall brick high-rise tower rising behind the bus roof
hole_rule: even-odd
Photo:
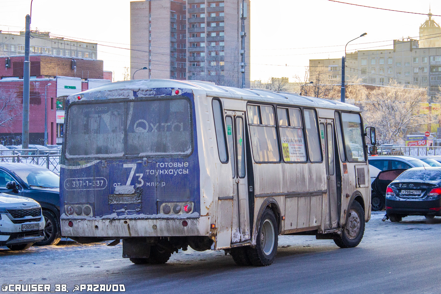
[[[242,0],[131,2],[131,78],[202,80],[240,87],[241,54],[245,54],[249,87],[250,1],[244,3],[242,51]],[[148,70],[139,70],[143,67]]]

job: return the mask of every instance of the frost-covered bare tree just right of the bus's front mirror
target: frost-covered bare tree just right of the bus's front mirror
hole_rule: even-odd
[[[426,101],[426,89],[405,88],[392,82],[366,89],[361,108],[365,123],[376,128],[380,144],[402,143],[412,129],[434,121],[431,114],[420,111],[421,103]]]

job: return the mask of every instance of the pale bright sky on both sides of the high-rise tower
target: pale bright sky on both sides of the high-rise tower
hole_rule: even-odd
[[[34,0],[31,30],[98,43],[98,59],[115,73],[130,66],[130,0]],[[304,76],[310,59],[341,58],[348,52],[392,48],[392,40],[418,37],[427,18],[329,0],[250,0],[251,80]],[[441,15],[441,1],[342,0],[352,4]],[[418,4],[418,5],[416,5]],[[0,30],[24,30],[30,0],[0,0]],[[434,20],[441,22],[440,16]],[[31,41],[32,42],[32,41]],[[367,43],[367,44],[362,44]],[[32,45],[32,44],[31,44]],[[108,46],[121,47],[112,48]],[[378,47],[381,46],[381,47]]]

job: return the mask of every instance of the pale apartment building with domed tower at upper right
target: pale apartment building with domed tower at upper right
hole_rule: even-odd
[[[437,32],[441,32],[440,26],[429,15],[429,19],[420,26],[422,37],[420,40],[404,38],[394,40],[391,49],[359,50],[348,53],[346,74],[349,76],[352,74],[352,78],[372,85],[387,85],[395,80],[403,85],[426,87],[429,96],[434,96],[440,93],[441,86],[441,44],[437,43]],[[427,37],[429,34],[431,34],[430,39]],[[421,44],[427,47],[422,47]],[[329,67],[329,74],[332,77],[327,83],[335,79],[341,81],[339,60],[341,59],[310,60],[310,80],[313,81],[316,74],[315,66],[324,64]],[[350,64],[351,60],[355,60],[353,67]],[[337,71],[333,71],[334,63],[338,63]]]

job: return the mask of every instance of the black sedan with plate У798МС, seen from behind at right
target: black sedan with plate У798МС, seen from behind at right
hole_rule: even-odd
[[[441,216],[441,167],[414,167],[399,175],[386,189],[386,214],[392,222]]]

